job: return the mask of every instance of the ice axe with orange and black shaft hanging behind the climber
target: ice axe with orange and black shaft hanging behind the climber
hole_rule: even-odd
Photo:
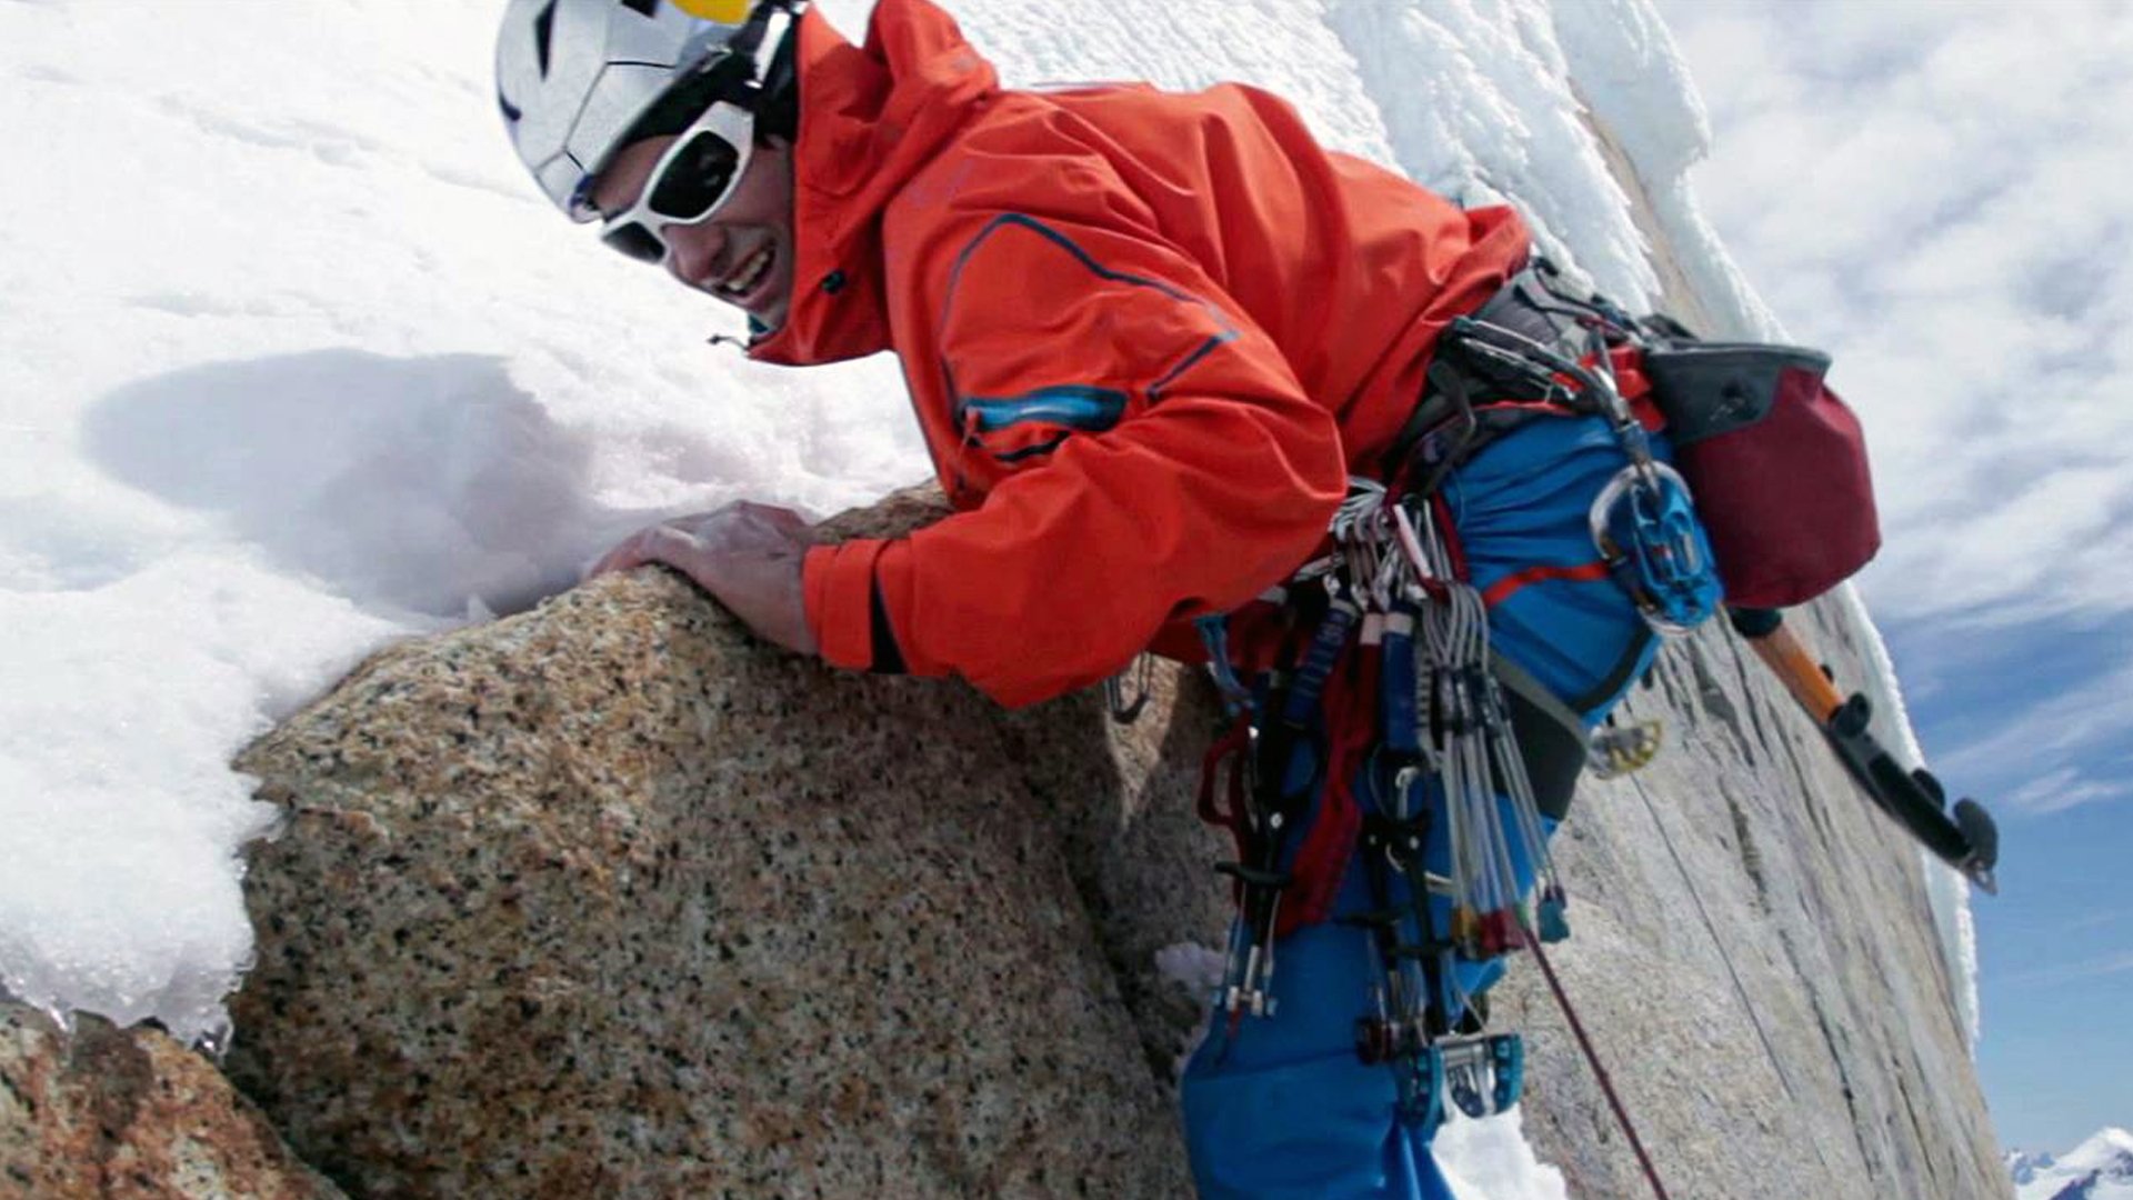
[[[1950,867],[1969,875],[1986,895],[1996,895],[1992,869],[1999,865],[1999,826],[1992,814],[1973,799],[1947,807],[1947,792],[1924,767],[1905,769],[1866,730],[1873,705],[1864,694],[1845,698],[1826,666],[1785,628],[1777,609],[1728,609],[1734,632],[1755,647],[1755,656],[1785,683],[1792,698],[1815,717],[1824,737],[1837,749],[1851,777],[1873,796],[1873,803],[1905,828],[1920,846]]]

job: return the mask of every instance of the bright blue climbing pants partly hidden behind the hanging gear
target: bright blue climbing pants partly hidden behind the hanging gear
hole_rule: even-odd
[[[1489,446],[1444,485],[1470,581],[1487,591],[1534,566],[1593,562],[1587,510],[1623,463],[1600,421],[1536,421]],[[1636,606],[1604,579],[1521,587],[1491,609],[1489,621],[1491,645],[1557,696],[1589,694],[1642,636]],[[1647,645],[1632,679],[1651,653]],[[1598,722],[1619,692],[1583,713],[1587,722]],[[1367,781],[1359,781],[1357,799],[1372,803]],[[1440,873],[1448,865],[1442,826],[1431,822],[1427,850],[1429,869]],[[1531,867],[1517,869],[1529,884]],[[1436,905],[1444,929],[1448,910],[1442,899]],[[1352,863],[1335,914],[1365,907],[1367,871]],[[1478,995],[1499,974],[1502,961],[1459,963],[1457,991]],[[1273,1016],[1246,1016],[1231,1033],[1226,1014],[1216,1012],[1182,1083],[1186,1147],[1205,1200],[1450,1200],[1427,1132],[1395,1110],[1393,1070],[1367,1065],[1354,1051],[1354,1023],[1380,980],[1372,933],[1331,920],[1276,944]]]

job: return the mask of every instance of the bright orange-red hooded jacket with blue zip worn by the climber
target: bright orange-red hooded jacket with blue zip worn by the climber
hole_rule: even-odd
[[[892,348],[958,512],[817,547],[825,660],[1026,705],[1190,656],[1376,474],[1442,325],[1527,256],[1252,88],[1000,90],[926,0],[808,11],[772,363]],[[900,660],[900,662],[898,662]]]

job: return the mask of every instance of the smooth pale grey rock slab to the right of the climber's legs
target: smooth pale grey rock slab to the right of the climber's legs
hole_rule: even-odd
[[[1864,679],[1839,604],[1787,623]],[[1551,959],[1662,1181],[2009,1196],[1911,843],[1723,630],[1659,658],[1621,713],[1642,717],[1666,752],[1587,781],[1557,839],[1574,937]],[[1649,1194],[1538,972],[1495,1019],[1527,1031],[1525,1127],[1570,1194]]]

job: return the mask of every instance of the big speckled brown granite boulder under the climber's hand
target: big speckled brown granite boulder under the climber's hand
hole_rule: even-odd
[[[241,758],[288,818],[228,1070],[354,1196],[1186,1194],[1171,709],[1003,720],[663,570],[390,649]]]

